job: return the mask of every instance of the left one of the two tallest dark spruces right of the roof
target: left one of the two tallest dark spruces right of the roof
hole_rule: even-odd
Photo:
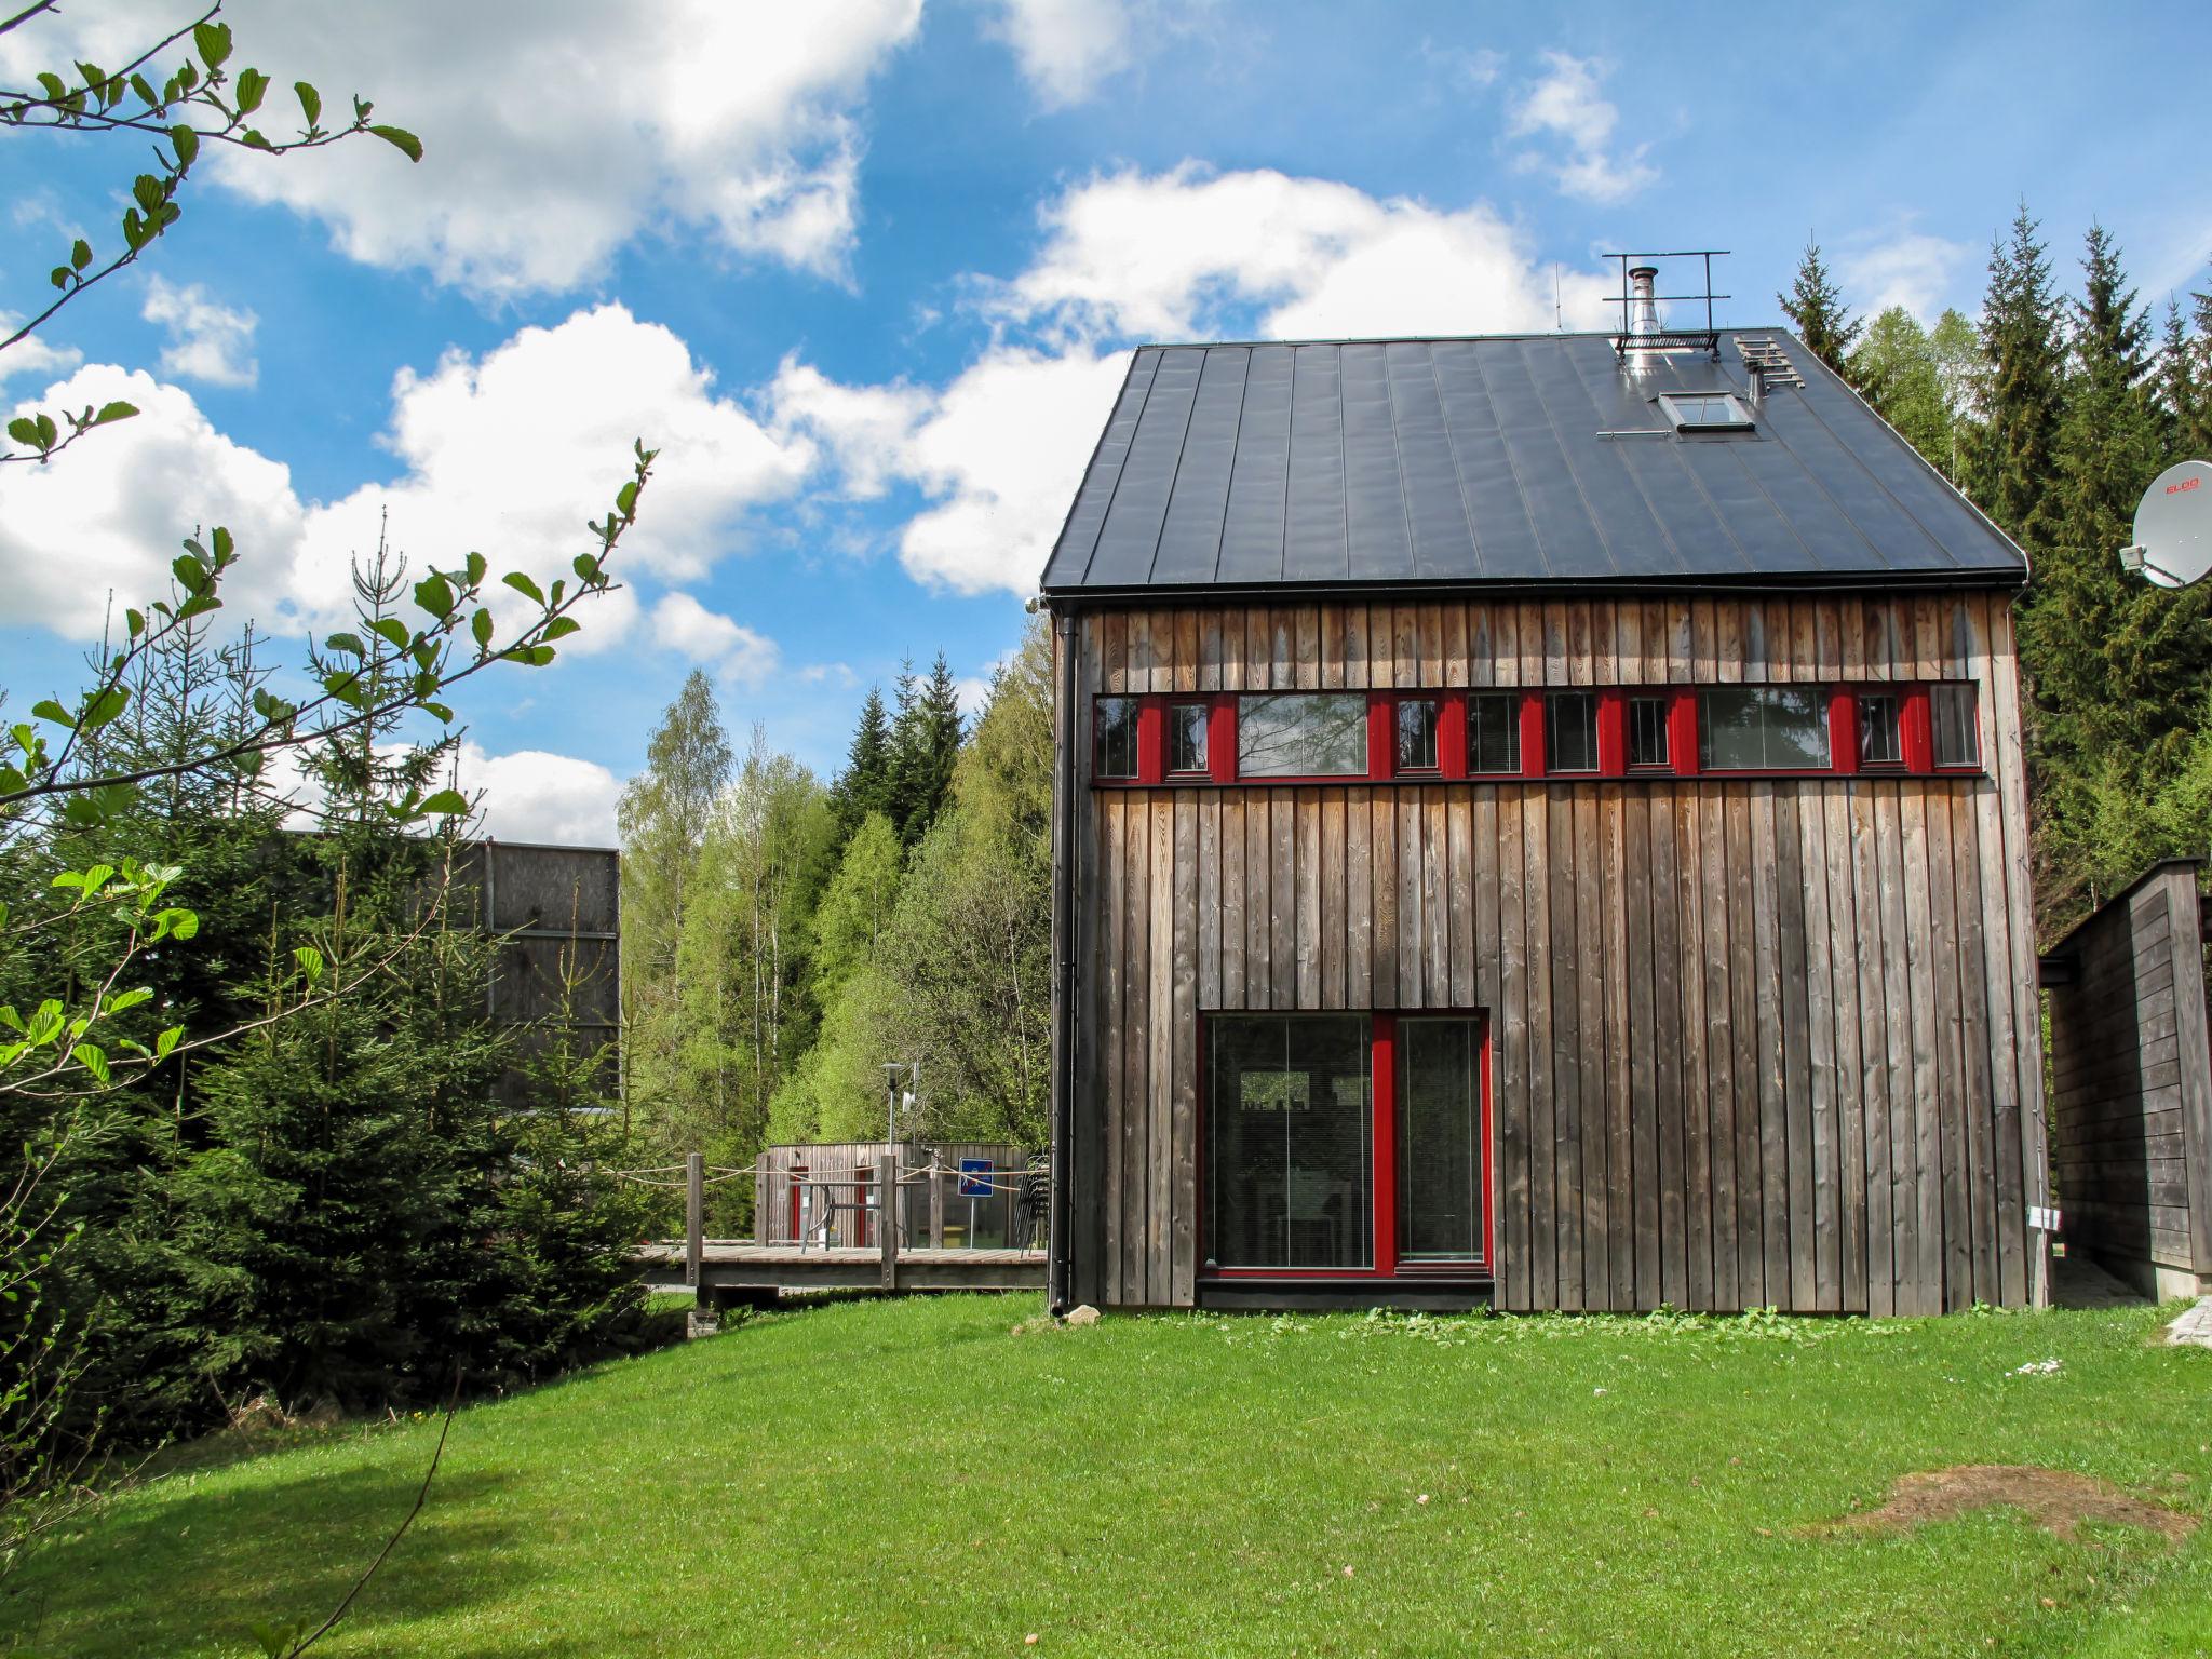
[[[2066,336],[2051,259],[2026,204],[2011,241],[1989,250],[1980,332],[1986,380],[1975,442],[1964,453],[1966,493],[2033,553],[2055,529]]]

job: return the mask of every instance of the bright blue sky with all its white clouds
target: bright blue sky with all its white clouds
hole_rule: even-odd
[[[692,666],[832,772],[867,684],[1022,626],[1141,338],[1595,325],[1610,248],[1807,234],[1858,307],[1971,310],[2026,197],[2073,272],[2205,285],[2183,7],[232,0],[241,62],[361,91],[374,144],[195,177],[135,272],[0,354],[0,400],[146,414],[0,473],[0,686],[73,688],[106,597],[226,522],[234,615],[327,628],[378,513],[416,560],[557,571],[664,447],[626,593],[462,703],[498,834],[604,841]],[[179,20],[80,4],[0,71]],[[42,33],[44,31],[44,33]],[[276,100],[272,100],[276,102]],[[131,159],[0,144],[0,310]],[[1555,305],[1557,294],[1557,305]]]

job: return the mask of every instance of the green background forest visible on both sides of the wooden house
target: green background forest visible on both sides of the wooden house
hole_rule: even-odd
[[[2152,858],[2212,849],[2208,593],[2126,575],[2143,487],[2212,458],[2212,296],[2157,319],[2101,228],[2062,290],[2020,210],[1980,316],[1858,316],[1818,246],[1778,296],[1845,376],[2022,549],[2017,602],[2046,940]],[[969,730],[940,657],[869,690],[818,779],[757,728],[737,754],[706,675],[622,803],[624,1066],[657,1155],[743,1166],[776,1141],[876,1139],[885,1064],[920,1062],[916,1137],[1046,1137],[1051,635]],[[717,1228],[750,1230],[745,1183]]]

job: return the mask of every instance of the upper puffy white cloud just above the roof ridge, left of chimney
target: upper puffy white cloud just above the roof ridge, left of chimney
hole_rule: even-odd
[[[1259,310],[1259,332],[1462,334],[1551,327],[1551,283],[1482,201],[1433,208],[1272,170],[1115,173],[1044,206],[1037,259],[987,305],[1071,334],[1190,336]],[[1568,321],[1601,327],[1577,272]]]

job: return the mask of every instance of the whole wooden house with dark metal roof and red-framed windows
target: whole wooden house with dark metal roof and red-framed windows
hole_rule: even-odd
[[[1055,1303],[2042,1301],[2024,580],[1781,330],[1135,352]]]

